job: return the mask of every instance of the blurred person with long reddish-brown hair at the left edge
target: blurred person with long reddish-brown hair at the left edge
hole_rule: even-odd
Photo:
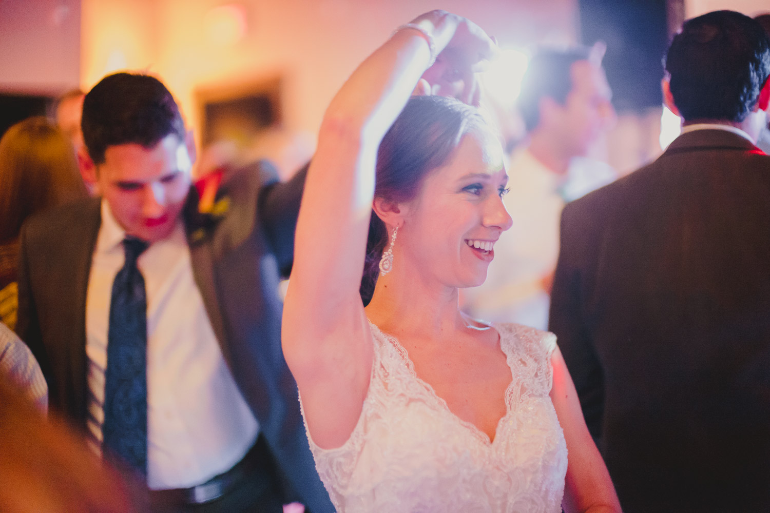
[[[18,122],[0,139],[0,320],[16,324],[18,234],[30,215],[84,198],[75,152],[46,118]]]

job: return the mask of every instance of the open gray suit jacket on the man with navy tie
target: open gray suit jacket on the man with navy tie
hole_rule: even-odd
[[[192,270],[233,378],[276,459],[276,472],[313,512],[333,511],[310,454],[294,382],[280,345],[278,284],[293,258],[305,170],[277,182],[264,163],[218,192],[229,208],[198,213],[191,188],[184,220]],[[49,381],[52,408],[85,428],[85,297],[99,233],[92,198],[30,218],[22,228],[17,332]],[[298,497],[297,497],[298,496]]]

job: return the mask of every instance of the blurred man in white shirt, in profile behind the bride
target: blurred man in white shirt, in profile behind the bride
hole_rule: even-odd
[[[471,315],[546,328],[564,203],[616,178],[607,164],[577,162],[615,118],[603,54],[547,49],[531,59],[518,100],[528,137],[512,155],[504,198],[514,225],[495,245],[484,285],[464,291]]]

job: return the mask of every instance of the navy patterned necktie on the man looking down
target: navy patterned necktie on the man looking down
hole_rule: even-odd
[[[112,282],[102,445],[147,475],[147,298],[136,259],[147,248],[123,240],[126,263]],[[105,453],[108,451],[105,451]]]

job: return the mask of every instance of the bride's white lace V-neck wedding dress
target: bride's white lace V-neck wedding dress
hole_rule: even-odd
[[[338,513],[561,512],[567,445],[548,395],[553,334],[494,325],[513,379],[490,443],[417,377],[395,338],[371,328],[372,378],[356,428],[330,450],[308,433]]]

